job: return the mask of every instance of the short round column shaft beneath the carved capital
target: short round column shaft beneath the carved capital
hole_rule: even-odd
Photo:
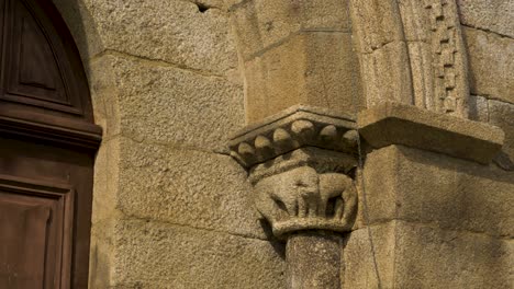
[[[286,247],[288,288],[339,289],[343,238],[322,232],[291,235]]]

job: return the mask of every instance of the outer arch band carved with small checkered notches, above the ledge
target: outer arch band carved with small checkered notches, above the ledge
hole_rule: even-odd
[[[414,104],[468,116],[468,66],[455,0],[401,0]]]

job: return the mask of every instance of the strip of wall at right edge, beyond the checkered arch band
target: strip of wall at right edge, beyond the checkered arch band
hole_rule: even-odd
[[[460,0],[459,4],[469,54],[472,117],[505,131],[500,162],[513,170],[514,2]]]

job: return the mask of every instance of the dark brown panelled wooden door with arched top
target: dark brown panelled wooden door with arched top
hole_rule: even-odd
[[[49,0],[0,0],[0,288],[87,288],[101,140]]]

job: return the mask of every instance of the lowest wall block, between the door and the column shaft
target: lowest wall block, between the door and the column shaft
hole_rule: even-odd
[[[113,220],[102,230],[96,234],[111,235],[111,251],[91,250],[109,262],[109,270],[92,268],[107,275],[109,287],[100,288],[282,288],[286,281],[280,244],[146,220]]]

